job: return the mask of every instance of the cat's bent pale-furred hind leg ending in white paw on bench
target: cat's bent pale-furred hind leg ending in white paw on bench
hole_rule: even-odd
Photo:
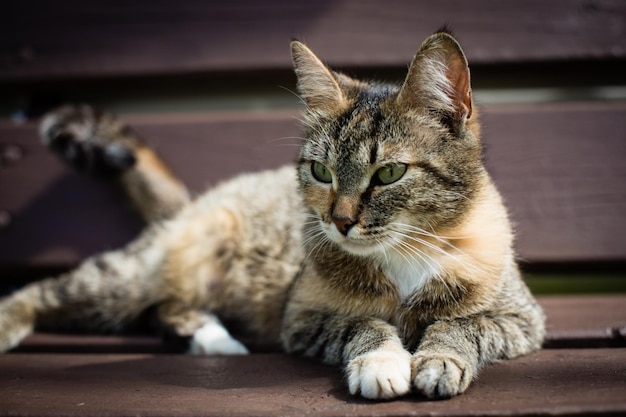
[[[191,354],[248,353],[213,314],[228,299],[236,304],[233,292],[243,289],[227,278],[239,235],[235,216],[207,207],[185,211],[172,224],[163,268],[168,295],[157,310],[163,330],[187,341]]]

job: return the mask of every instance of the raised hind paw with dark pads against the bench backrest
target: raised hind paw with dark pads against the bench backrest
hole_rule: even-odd
[[[134,166],[137,139],[123,123],[91,106],[63,106],[40,125],[42,142],[80,172],[111,176]]]

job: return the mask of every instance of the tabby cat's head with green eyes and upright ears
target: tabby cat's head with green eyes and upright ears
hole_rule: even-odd
[[[458,42],[431,35],[402,85],[334,72],[298,41],[291,53],[306,103],[298,178],[316,228],[369,255],[458,224],[485,176]]]

